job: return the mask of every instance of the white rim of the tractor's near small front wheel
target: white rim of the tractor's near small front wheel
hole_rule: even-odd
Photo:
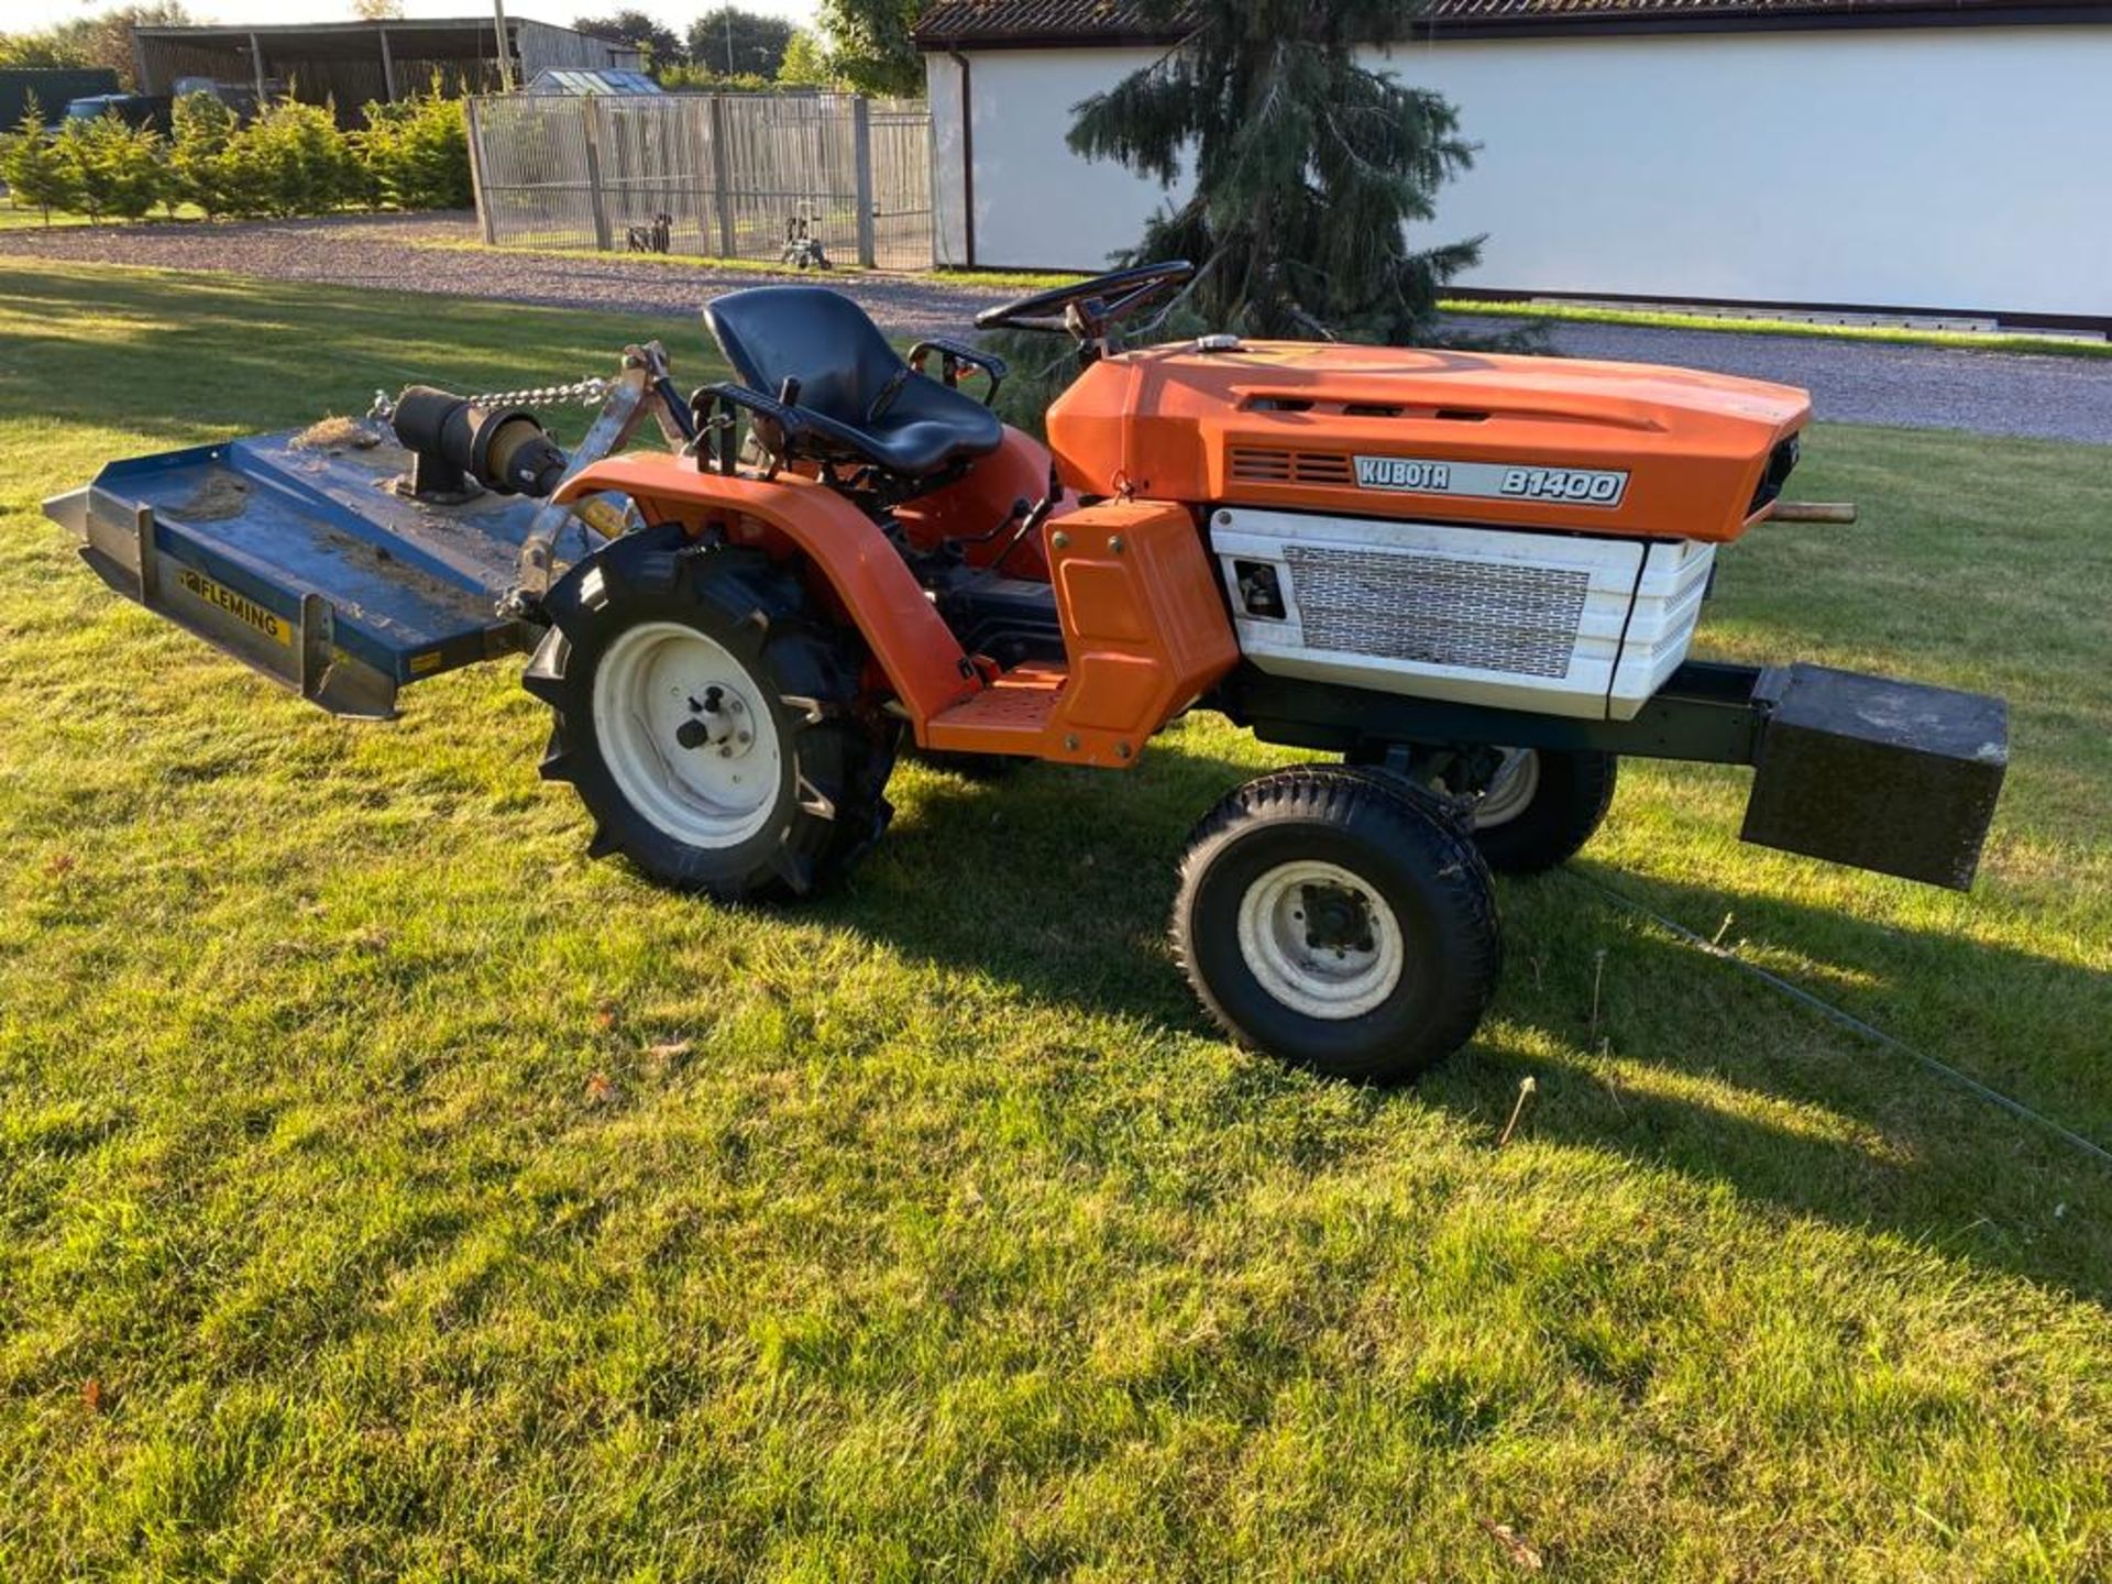
[[[1240,898],[1240,957],[1263,991],[1307,1018],[1360,1018],[1407,961],[1392,906],[1339,864],[1278,864]]]

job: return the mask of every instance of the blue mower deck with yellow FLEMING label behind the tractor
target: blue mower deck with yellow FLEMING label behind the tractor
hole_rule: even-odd
[[[260,435],[112,463],[44,509],[125,598],[334,714],[389,718],[403,684],[532,638],[494,606],[536,503],[410,501],[408,460],[355,427]]]

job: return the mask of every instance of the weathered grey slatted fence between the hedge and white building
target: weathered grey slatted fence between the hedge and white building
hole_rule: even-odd
[[[921,270],[931,114],[851,95],[471,99],[484,241],[777,260],[805,230],[838,262]]]

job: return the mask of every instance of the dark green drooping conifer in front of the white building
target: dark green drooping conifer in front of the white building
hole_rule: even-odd
[[[1409,36],[1419,0],[1136,0],[1183,42],[1079,106],[1071,148],[1187,199],[1126,262],[1189,258],[1185,306],[1212,327],[1411,344],[1481,239],[1415,247],[1436,190],[1472,161],[1453,108],[1360,63]]]

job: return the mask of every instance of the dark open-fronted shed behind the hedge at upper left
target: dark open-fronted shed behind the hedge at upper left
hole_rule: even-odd
[[[627,44],[507,21],[513,80],[562,65],[638,70]],[[133,34],[142,93],[169,93],[184,76],[247,82],[258,95],[289,89],[308,103],[336,103],[357,125],[370,99],[401,99],[439,74],[448,93],[498,87],[498,30],[490,13],[439,21],[319,21],[272,27],[139,27]]]

